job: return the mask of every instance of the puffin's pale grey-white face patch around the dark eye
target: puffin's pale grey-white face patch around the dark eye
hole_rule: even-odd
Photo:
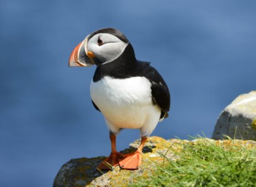
[[[106,64],[116,60],[128,44],[112,34],[99,33],[87,41],[87,50],[91,51],[101,64]],[[94,61],[93,58],[91,60]]]

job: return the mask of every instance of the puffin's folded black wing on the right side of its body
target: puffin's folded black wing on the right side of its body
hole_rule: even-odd
[[[141,63],[140,66],[143,66],[142,75],[151,82],[152,100],[161,108],[160,118],[168,117],[167,112],[170,110],[170,92],[164,79],[154,67],[150,66],[149,62],[139,63]]]

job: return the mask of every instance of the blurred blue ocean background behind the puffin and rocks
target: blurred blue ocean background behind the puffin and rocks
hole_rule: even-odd
[[[71,158],[109,155],[89,96],[96,67],[69,68],[87,34],[115,27],[169,85],[152,135],[211,137],[219,113],[256,89],[256,1],[0,1],[0,186],[51,186]],[[139,130],[124,130],[127,148]]]

